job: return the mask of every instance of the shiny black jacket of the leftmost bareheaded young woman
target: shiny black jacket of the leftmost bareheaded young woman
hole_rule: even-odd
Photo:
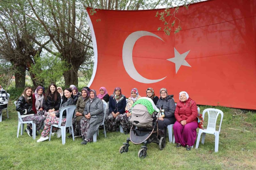
[[[20,115],[28,115],[34,114],[35,112],[32,110],[32,98],[28,100],[29,103],[26,102],[24,96],[20,96],[17,101],[16,111],[20,112]]]

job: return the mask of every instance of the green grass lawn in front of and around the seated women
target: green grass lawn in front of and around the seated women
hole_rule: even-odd
[[[186,151],[169,142],[159,150],[151,143],[147,157],[140,159],[137,153],[141,145],[130,143],[129,152],[119,153],[128,137],[119,132],[107,132],[104,138],[101,130],[97,142],[85,146],[80,145],[81,138],[66,138],[65,145],[56,136],[41,143],[36,142],[40,135],[36,140],[27,133],[17,138],[18,116],[13,102],[8,106],[10,119],[3,111],[0,122],[0,169],[256,169],[255,112],[216,107],[224,112],[217,153],[214,135],[207,134],[205,144],[200,143],[197,150],[195,145]],[[200,106],[201,113],[206,108],[210,106]]]

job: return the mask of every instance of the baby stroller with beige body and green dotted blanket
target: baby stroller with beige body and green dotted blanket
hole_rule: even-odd
[[[162,108],[162,106],[161,106]],[[145,158],[147,155],[147,144],[156,143],[159,149],[165,147],[165,137],[158,139],[158,117],[160,110],[154,105],[154,102],[149,97],[141,97],[133,104],[130,122],[132,123],[130,137],[119,149],[119,152],[128,152],[129,142],[135,145],[143,143],[138,152],[139,158]]]

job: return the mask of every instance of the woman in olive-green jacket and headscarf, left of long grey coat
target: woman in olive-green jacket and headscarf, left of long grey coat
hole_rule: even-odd
[[[78,97],[77,100],[77,109],[75,110],[75,116],[72,119],[73,129],[74,129],[74,136],[79,136],[79,127],[80,127],[80,120],[84,117],[84,107],[87,101],[90,100],[89,92],[86,88],[81,90],[81,96]],[[68,136],[71,138],[72,134]]]

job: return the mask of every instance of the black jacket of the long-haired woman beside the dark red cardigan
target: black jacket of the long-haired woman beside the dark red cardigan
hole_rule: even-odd
[[[57,101],[54,101],[54,96],[51,93],[47,97],[47,101],[45,99],[43,100],[44,110],[46,110],[47,112],[50,109],[55,109],[55,111],[59,110],[59,107],[61,104],[61,97],[59,93],[57,93],[57,95],[58,95]]]

